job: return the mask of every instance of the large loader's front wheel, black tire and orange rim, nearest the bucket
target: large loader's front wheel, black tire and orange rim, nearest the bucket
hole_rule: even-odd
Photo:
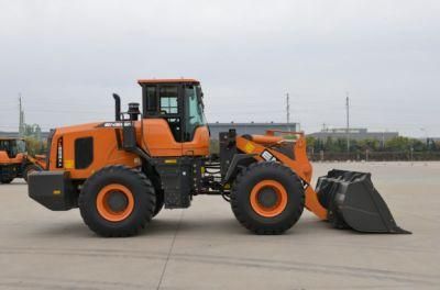
[[[299,178],[278,163],[256,163],[242,170],[231,190],[237,220],[264,235],[282,234],[304,211],[305,194]]]

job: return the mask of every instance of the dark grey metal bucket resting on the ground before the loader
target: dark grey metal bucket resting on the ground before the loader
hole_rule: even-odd
[[[316,192],[337,228],[362,233],[410,234],[397,226],[371,174],[333,169],[318,179]]]

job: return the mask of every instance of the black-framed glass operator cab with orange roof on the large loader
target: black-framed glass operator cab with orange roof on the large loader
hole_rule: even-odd
[[[165,119],[176,142],[190,142],[207,126],[200,82],[195,79],[141,79],[145,119]]]

